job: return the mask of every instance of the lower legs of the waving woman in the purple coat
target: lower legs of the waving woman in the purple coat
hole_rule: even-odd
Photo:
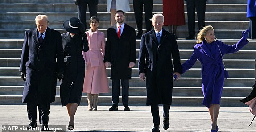
[[[209,108],[209,114],[211,116],[211,130],[216,130],[217,128],[217,119],[219,115],[219,104],[211,104]]]

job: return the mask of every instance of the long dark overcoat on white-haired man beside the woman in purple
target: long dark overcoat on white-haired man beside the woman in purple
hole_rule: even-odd
[[[154,30],[142,35],[139,52],[139,74],[146,74],[147,105],[170,105],[173,90],[173,65],[174,72],[182,72],[179,49],[175,36],[165,29],[163,29],[160,44],[157,45]]]

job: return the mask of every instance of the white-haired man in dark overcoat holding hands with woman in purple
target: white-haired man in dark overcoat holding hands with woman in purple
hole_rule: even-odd
[[[141,37],[139,77],[143,81],[145,81],[146,77],[147,105],[151,105],[154,122],[152,132],[159,132],[158,105],[163,104],[163,128],[166,130],[169,128],[173,76],[177,76],[176,80],[178,80],[182,72],[182,66],[175,35],[163,29],[164,16],[162,14],[153,15],[152,25],[154,29]]]

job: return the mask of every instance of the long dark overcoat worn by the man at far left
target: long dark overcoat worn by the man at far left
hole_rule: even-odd
[[[55,101],[57,76],[63,73],[61,34],[47,27],[39,45],[37,28],[25,32],[20,71],[26,73],[24,103],[49,104]]]

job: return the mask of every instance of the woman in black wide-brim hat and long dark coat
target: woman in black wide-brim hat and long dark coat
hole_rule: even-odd
[[[80,104],[83,81],[85,74],[85,61],[82,51],[89,50],[84,25],[76,17],[63,23],[67,33],[62,34],[62,46],[64,50],[64,74],[60,82],[60,96],[62,106],[67,107],[69,130],[74,129],[74,115]]]

